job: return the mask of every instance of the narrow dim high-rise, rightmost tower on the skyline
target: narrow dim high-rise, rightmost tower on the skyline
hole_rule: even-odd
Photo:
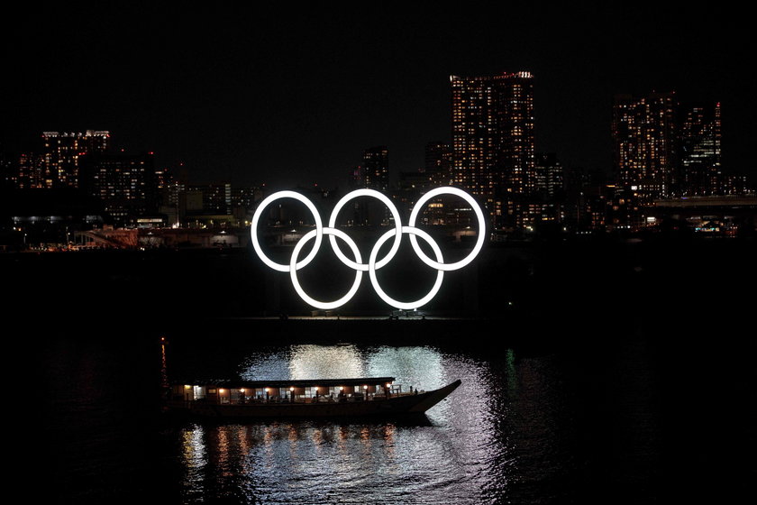
[[[680,126],[679,161],[686,196],[725,194],[720,165],[720,103],[689,106]]]

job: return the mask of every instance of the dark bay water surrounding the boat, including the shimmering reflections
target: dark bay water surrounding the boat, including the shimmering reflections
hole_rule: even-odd
[[[9,457],[55,503],[737,502],[757,482],[755,257],[492,249],[444,302],[490,320],[393,324],[229,319],[269,294],[243,254],[4,256]],[[462,386],[413,423],[169,419],[160,335],[172,376]]]

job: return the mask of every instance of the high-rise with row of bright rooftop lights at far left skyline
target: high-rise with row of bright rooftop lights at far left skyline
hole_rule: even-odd
[[[43,132],[45,179],[49,187],[78,188],[80,157],[107,151],[110,133],[87,130],[86,133]]]

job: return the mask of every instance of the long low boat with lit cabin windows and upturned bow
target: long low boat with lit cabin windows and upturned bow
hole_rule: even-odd
[[[461,385],[402,390],[394,377],[313,381],[187,381],[166,409],[214,418],[397,417],[424,414]]]

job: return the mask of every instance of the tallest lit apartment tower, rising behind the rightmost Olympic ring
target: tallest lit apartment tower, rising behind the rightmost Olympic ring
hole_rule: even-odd
[[[489,206],[497,198],[532,192],[534,76],[515,72],[450,80],[453,184]]]

